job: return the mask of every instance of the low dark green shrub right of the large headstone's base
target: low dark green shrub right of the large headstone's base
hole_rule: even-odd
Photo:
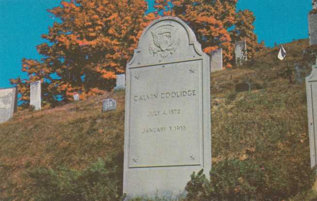
[[[279,201],[308,190],[314,183],[314,169],[299,170],[297,175],[282,171],[269,163],[258,165],[251,160],[224,160],[213,165],[210,181],[203,171],[191,175],[185,188],[187,200]],[[297,180],[298,177],[301,180]]]

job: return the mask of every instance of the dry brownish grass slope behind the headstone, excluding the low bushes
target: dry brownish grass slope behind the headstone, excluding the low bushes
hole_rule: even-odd
[[[307,40],[285,45],[292,69],[306,47]],[[281,161],[301,156],[309,164],[305,85],[289,84],[280,75],[286,65],[277,60],[277,52],[278,48],[265,50],[243,67],[212,75],[214,163],[225,157],[266,160],[276,156]],[[252,77],[258,89],[234,93],[235,84],[246,77]],[[116,111],[101,113],[105,98],[117,100]],[[292,145],[289,136],[296,139]],[[122,151],[123,142],[123,91],[54,109],[20,111],[0,124],[0,198],[10,194],[30,198],[28,169],[84,168],[98,157]]]

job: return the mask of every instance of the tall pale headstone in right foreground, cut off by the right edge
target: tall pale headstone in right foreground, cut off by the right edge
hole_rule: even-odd
[[[312,72],[306,77],[307,115],[311,167],[317,160],[317,59]]]

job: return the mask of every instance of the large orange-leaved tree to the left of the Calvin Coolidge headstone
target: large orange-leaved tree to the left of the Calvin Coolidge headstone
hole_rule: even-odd
[[[37,46],[41,61],[22,60],[28,79],[12,79],[28,105],[30,83],[42,81],[43,100],[55,105],[111,90],[115,76],[127,61],[153,14],[145,15],[145,0],[70,0],[48,12],[61,19],[42,34],[47,43]]]

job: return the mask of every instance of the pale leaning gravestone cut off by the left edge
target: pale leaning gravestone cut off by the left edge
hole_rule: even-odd
[[[16,111],[17,88],[0,89],[0,123],[6,122]]]

